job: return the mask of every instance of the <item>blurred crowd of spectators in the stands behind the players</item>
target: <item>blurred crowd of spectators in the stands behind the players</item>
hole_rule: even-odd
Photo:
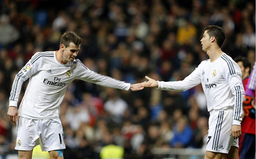
[[[254,0],[5,0],[0,10],[0,155],[17,153],[7,116],[15,75],[34,53],[59,50],[65,31],[83,38],[77,58],[86,67],[130,83],[183,80],[208,58],[200,43],[208,25],[224,28],[226,54],[255,62]],[[125,158],[152,158],[152,148],[203,149],[208,116],[201,85],[132,92],[75,80],[61,104],[64,156],[99,158],[111,143]]]

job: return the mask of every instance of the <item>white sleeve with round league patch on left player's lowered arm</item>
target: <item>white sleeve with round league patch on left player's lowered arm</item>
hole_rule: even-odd
[[[40,64],[39,53],[36,53],[28,63],[16,74],[9,97],[9,106],[17,107],[21,86],[24,81],[38,71]]]

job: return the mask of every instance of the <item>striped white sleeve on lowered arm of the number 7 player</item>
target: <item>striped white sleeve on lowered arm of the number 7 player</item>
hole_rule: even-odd
[[[228,60],[223,68],[223,76],[232,94],[235,96],[233,125],[241,125],[243,115],[242,99],[245,95],[245,89],[243,89],[242,85],[241,69],[234,60]]]

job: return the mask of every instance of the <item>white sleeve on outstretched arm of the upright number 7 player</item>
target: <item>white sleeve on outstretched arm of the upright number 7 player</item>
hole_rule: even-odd
[[[201,83],[201,70],[202,63],[184,80],[182,81],[173,81],[173,82],[164,82],[164,81],[157,81],[159,90],[166,90],[166,91],[187,91],[195,87]]]

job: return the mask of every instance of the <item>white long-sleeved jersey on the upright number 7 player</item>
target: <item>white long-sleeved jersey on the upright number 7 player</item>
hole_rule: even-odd
[[[223,53],[214,62],[204,60],[183,81],[157,82],[158,89],[175,91],[186,91],[202,83],[208,111],[234,108],[233,124],[240,125],[243,114],[242,97],[245,94],[242,73],[237,63],[227,54]]]

